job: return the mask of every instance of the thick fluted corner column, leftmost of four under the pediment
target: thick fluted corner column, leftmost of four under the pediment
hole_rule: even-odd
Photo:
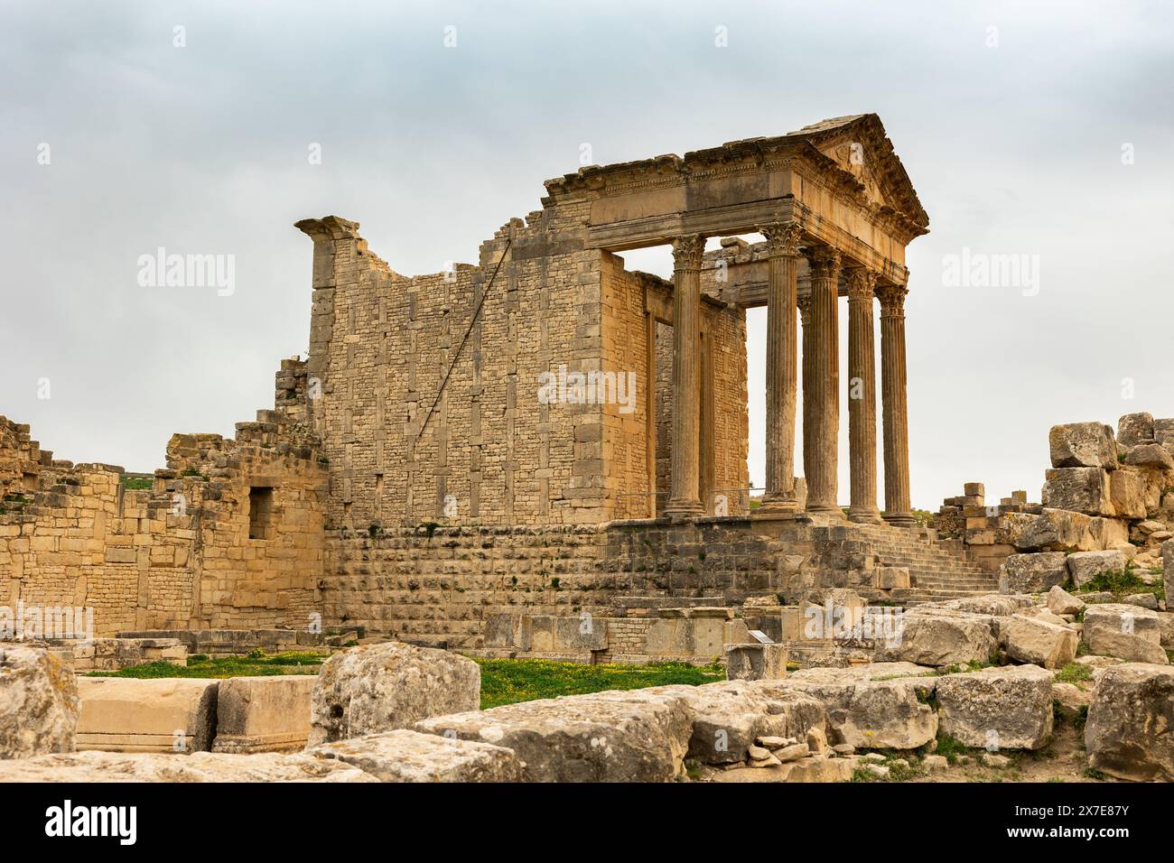
[[[758,229],[767,238],[767,490],[760,513],[792,515],[795,500],[795,393],[798,385],[799,227]]]

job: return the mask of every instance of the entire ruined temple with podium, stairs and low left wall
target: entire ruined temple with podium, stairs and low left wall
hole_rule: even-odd
[[[994,587],[997,554],[912,526],[905,247],[927,217],[875,115],[546,191],[475,264],[423,276],[355,222],[298,222],[309,356],[282,362],[274,410],[235,438],[174,436],[149,487],[0,418],[0,604],[92,607],[107,635],[313,621],[535,650],[549,621],[591,613],[618,621],[592,652],[620,656],[649,653],[650,623],[628,618],[657,604],[724,616],[844,587],[906,602]],[[672,281],[625,268],[656,245]],[[748,357],[745,310],[763,305],[767,353]],[[755,510],[751,362],[768,390]]]

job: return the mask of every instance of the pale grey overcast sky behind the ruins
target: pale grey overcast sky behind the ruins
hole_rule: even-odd
[[[5,0],[0,413],[59,458],[154,470],[173,432],[271,407],[304,355],[299,218],[356,220],[393,269],[433,272],[538,209],[585,143],[606,164],[876,112],[930,215],[913,505],[966,480],[1038,500],[1052,424],[1174,416],[1170,9]],[[234,255],[231,296],[142,286],[160,247]],[[950,284],[964,249],[1025,255],[1038,285]],[[627,257],[669,275],[664,249]],[[761,485],[764,311],[749,325]]]

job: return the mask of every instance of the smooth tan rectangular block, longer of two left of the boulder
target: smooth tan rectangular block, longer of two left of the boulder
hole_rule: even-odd
[[[218,680],[77,677],[79,750],[197,753],[216,736]]]

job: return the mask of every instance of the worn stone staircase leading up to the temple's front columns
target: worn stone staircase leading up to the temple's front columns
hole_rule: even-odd
[[[876,566],[906,567],[910,588],[896,588],[889,599],[917,605],[960,596],[997,593],[998,577],[970,560],[959,539],[939,539],[926,527],[899,528],[889,525],[853,525],[861,541],[875,555]]]

